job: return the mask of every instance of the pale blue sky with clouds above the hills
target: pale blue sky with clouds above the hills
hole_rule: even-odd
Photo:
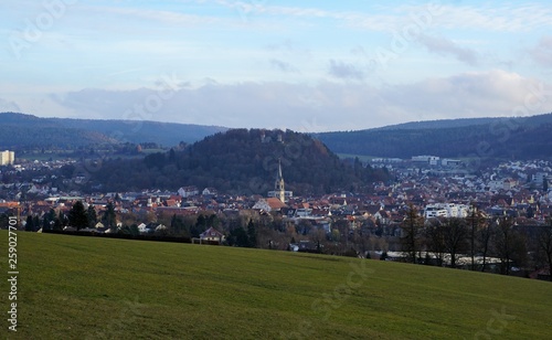
[[[317,132],[552,111],[550,1],[4,0],[0,111]]]

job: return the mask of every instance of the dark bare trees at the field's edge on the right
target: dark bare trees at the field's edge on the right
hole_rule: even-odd
[[[411,263],[457,268],[458,258],[467,255],[471,270],[488,270],[490,257],[499,259],[498,270],[503,275],[516,268],[552,267],[552,219],[521,227],[511,217],[486,219],[473,208],[465,219],[424,220],[411,205],[401,229],[402,248]]]

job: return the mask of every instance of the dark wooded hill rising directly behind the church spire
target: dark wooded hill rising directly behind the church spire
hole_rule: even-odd
[[[305,134],[234,129],[180,151],[152,153],[141,160],[104,161],[87,185],[107,191],[197,185],[266,195],[274,189],[278,161],[286,190],[302,194],[358,190],[363,183],[388,179],[382,170],[343,162],[321,141]]]

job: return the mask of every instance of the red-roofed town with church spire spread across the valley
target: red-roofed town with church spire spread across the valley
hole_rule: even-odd
[[[15,161],[13,152],[6,152],[10,157],[1,168],[0,214],[3,220],[17,214],[20,227],[30,232],[184,236],[211,244],[404,261],[404,222],[411,209],[425,224],[468,219],[477,211],[487,223],[507,219],[528,237],[537,226],[545,225],[552,213],[552,189],[548,185],[552,163],[542,160],[503,161],[474,171],[464,161],[436,156],[371,159],[371,167],[386,168],[394,180],[370,183],[365,193],[294,194],[286,190],[285,168],[279,163],[270,183],[274,190],[264,195],[227,194],[193,183],[173,191],[85,194],[60,191],[51,184],[55,176],[47,174],[75,160]],[[29,178],[26,173],[40,176]],[[28,180],[21,180],[24,178]],[[86,178],[64,181],[78,188]],[[71,225],[76,202],[86,210],[86,225]],[[423,249],[418,257],[429,257],[429,249]],[[523,251],[532,252],[530,246]],[[519,261],[523,263],[516,266],[542,267],[526,256]],[[492,269],[490,262],[488,265],[488,270],[500,270]],[[537,272],[550,276],[546,270]]]

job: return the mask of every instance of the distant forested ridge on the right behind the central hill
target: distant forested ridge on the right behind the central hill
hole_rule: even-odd
[[[471,123],[471,125],[469,125]],[[465,125],[468,124],[468,125]],[[316,137],[337,153],[410,158],[495,157],[550,159],[552,114],[518,118],[421,121]]]

